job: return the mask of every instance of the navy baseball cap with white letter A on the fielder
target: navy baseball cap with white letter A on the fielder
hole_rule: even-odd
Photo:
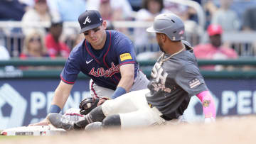
[[[78,17],[78,22],[81,27],[80,33],[97,28],[103,22],[100,12],[96,10],[85,11]]]

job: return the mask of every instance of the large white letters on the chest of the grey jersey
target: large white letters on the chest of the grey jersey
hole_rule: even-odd
[[[154,67],[152,69],[151,77],[153,77],[156,80],[156,82],[159,82],[159,79],[161,79],[161,84],[165,84],[166,77],[168,74],[166,72],[164,72],[164,74],[162,75],[163,71],[164,70],[161,67],[161,65],[159,65],[158,62],[156,62],[156,65],[154,65]]]

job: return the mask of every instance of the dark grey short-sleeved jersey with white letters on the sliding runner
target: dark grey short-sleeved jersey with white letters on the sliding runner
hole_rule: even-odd
[[[164,59],[170,57],[165,54]],[[193,48],[172,56],[162,63],[157,60],[148,84],[146,100],[156,106],[167,120],[178,118],[187,109],[191,96],[208,90],[199,72]]]

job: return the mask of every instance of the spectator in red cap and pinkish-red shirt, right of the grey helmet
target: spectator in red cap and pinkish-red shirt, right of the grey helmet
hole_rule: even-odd
[[[227,60],[238,58],[237,52],[232,48],[225,48],[222,46],[221,35],[223,29],[218,24],[211,24],[208,26],[207,33],[210,43],[196,45],[194,53],[198,59],[206,60]],[[222,66],[217,67],[202,67],[208,70],[223,70]]]

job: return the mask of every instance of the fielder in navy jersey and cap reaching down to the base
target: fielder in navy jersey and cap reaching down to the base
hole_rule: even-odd
[[[95,10],[85,11],[78,21],[85,40],[73,48],[60,74],[50,113],[59,113],[80,72],[91,78],[90,93],[97,105],[106,99],[146,89],[149,80],[139,71],[132,41],[117,31],[107,31],[107,22]]]

